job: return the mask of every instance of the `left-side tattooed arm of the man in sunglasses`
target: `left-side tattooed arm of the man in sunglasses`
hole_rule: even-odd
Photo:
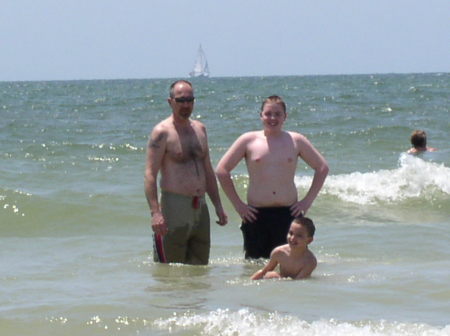
[[[147,144],[147,156],[145,164],[145,197],[150,207],[153,232],[165,235],[167,225],[161,213],[158,201],[158,172],[161,169],[162,160],[166,151],[167,133],[161,126],[156,126]]]

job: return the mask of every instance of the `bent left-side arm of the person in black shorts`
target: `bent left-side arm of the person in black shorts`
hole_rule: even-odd
[[[256,209],[248,206],[241,200],[236,191],[233,180],[231,179],[231,171],[245,156],[247,141],[247,136],[244,134],[231,145],[219,161],[216,168],[216,174],[223,191],[227,195],[236,212],[244,221],[251,222],[256,219]]]

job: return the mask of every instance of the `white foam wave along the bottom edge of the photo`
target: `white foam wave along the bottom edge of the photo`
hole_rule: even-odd
[[[154,326],[169,332],[188,330],[199,335],[223,336],[443,336],[449,335],[450,325],[433,327],[419,323],[399,322],[338,322],[320,320],[307,322],[295,316],[274,313],[254,313],[248,309],[233,312],[218,309],[207,314],[185,313],[158,319]]]

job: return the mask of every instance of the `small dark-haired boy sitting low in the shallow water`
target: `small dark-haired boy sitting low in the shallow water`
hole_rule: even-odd
[[[314,223],[307,217],[296,217],[289,227],[287,244],[273,249],[267,265],[252,275],[252,280],[307,278],[317,266],[314,254],[308,249],[316,231]],[[280,272],[275,267],[280,264]]]

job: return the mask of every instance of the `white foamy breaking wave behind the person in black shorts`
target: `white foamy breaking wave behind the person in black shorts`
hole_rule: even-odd
[[[300,188],[309,188],[311,178],[297,177],[296,184]],[[450,168],[402,154],[396,169],[331,175],[322,192],[357,204],[419,197],[433,199],[436,193],[450,195]]]

